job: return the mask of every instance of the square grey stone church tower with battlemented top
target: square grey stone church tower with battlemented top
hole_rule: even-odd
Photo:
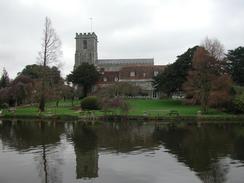
[[[86,62],[97,63],[97,35],[93,33],[76,33],[75,67]]]

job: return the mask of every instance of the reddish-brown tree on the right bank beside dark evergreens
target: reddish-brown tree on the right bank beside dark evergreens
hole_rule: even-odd
[[[184,83],[186,99],[192,104],[201,104],[203,112],[209,106],[219,106],[230,100],[231,79],[226,73],[220,73],[218,62],[203,47],[197,48],[192,70]]]

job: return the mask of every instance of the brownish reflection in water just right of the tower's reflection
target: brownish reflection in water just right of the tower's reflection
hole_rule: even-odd
[[[96,131],[99,137],[99,146],[116,152],[149,150],[159,145],[152,138],[153,125],[135,122],[108,123],[97,128]]]

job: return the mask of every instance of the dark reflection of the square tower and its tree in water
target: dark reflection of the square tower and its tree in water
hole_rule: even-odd
[[[71,133],[76,154],[76,177],[95,178],[98,176],[97,135],[92,128],[76,124]]]

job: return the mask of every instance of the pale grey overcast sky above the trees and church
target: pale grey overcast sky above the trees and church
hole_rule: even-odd
[[[45,16],[62,41],[63,76],[74,65],[75,33],[97,34],[99,58],[175,61],[205,37],[244,46],[244,0],[0,0],[0,69],[13,78],[36,63]]]

